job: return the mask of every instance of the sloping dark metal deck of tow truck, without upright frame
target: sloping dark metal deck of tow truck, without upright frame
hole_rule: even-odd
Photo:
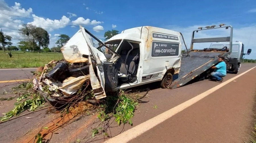
[[[218,57],[226,57],[231,52],[204,52],[202,50],[191,50],[189,56],[181,60],[181,68],[178,74],[173,75],[173,83],[170,89],[183,86],[214,64],[218,63]]]

